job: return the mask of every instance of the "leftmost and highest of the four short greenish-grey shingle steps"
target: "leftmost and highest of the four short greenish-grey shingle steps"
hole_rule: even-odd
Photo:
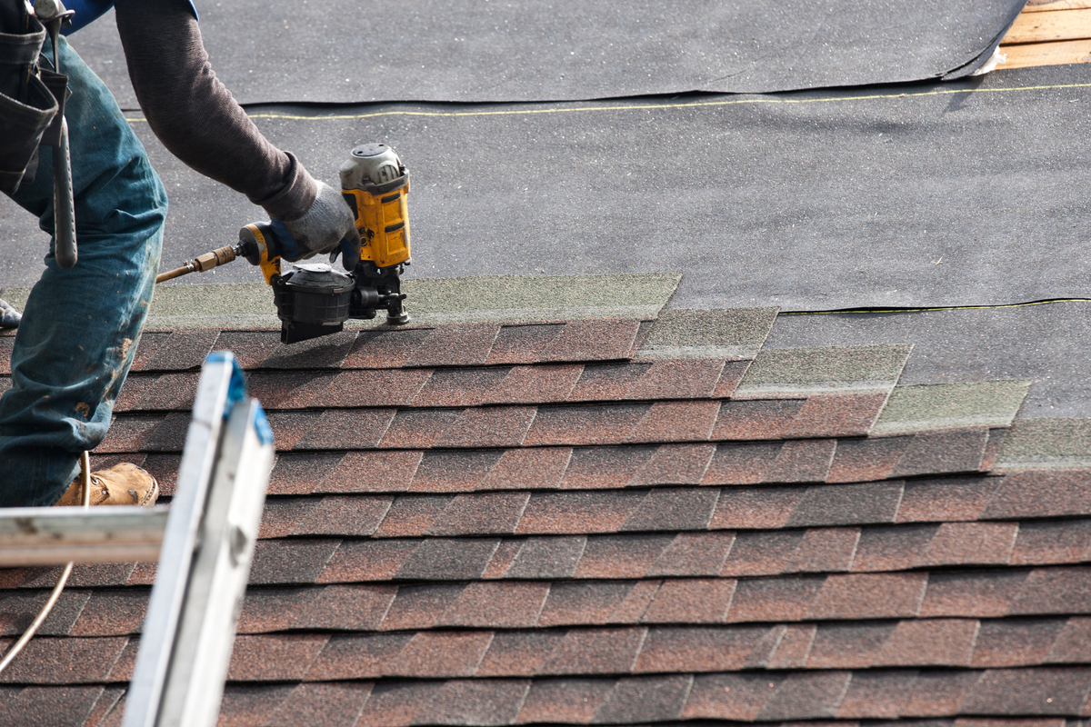
[[[666,310],[638,359],[753,359],[777,318],[777,308]]]

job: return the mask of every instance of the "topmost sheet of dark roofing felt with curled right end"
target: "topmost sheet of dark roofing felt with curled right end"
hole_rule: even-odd
[[[200,3],[213,68],[244,104],[540,101],[767,93],[958,76],[1023,0]],[[75,36],[136,108],[116,32]],[[299,73],[309,69],[309,73]]]

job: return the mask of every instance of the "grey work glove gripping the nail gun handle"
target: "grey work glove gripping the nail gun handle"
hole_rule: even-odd
[[[287,260],[339,250],[345,253],[341,264],[346,270],[360,262],[360,231],[356,229],[352,210],[340,192],[323,182],[319,182],[319,194],[302,217],[288,222],[275,219],[273,230],[280,255]]]

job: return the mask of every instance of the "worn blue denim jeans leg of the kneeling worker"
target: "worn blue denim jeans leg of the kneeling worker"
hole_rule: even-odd
[[[48,43],[46,44],[48,48]],[[51,52],[47,50],[47,56]],[[79,262],[52,244],[31,291],[0,398],[0,507],[52,505],[106,436],[152,302],[167,195],[105,84],[62,39]],[[52,149],[12,195],[53,231]]]

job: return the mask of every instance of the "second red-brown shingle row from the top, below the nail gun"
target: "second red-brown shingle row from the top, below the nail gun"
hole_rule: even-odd
[[[247,391],[266,410],[723,399],[735,390],[748,365],[748,361],[687,359],[466,368],[259,371],[248,375]],[[197,376],[197,372],[130,376],[115,411],[189,411]],[[878,403],[882,405],[882,398]]]

